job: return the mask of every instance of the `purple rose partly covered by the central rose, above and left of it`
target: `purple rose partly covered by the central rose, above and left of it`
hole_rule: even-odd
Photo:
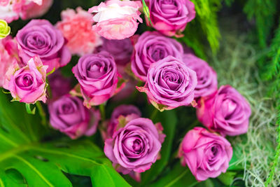
[[[132,71],[141,81],[146,81],[151,64],[169,55],[182,60],[183,47],[181,43],[162,36],[158,32],[144,32],[134,46]]]

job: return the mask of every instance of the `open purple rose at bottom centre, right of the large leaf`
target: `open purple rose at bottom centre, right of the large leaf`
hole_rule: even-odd
[[[152,120],[137,118],[106,139],[104,152],[118,172],[145,172],[157,160],[165,134]]]

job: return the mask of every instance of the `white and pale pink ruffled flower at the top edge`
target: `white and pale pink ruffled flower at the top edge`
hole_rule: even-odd
[[[96,13],[93,17],[97,22],[92,29],[106,39],[126,39],[136,31],[140,18],[142,4],[140,1],[109,0],[89,9],[90,13]]]

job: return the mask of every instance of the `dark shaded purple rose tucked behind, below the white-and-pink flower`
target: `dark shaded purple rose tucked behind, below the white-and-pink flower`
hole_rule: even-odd
[[[132,57],[132,41],[130,39],[109,40],[102,38],[103,44],[98,50],[105,50],[110,53],[117,65],[126,65]]]

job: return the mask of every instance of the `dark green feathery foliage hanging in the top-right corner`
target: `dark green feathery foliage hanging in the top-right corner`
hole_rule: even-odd
[[[244,6],[248,20],[255,20],[258,43],[261,48],[267,46],[267,38],[274,26],[276,3],[276,0],[248,0]]]

